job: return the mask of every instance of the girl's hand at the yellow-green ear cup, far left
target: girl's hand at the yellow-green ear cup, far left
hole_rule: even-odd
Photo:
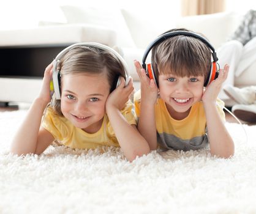
[[[51,62],[50,65],[45,68],[45,73],[43,75],[43,84],[40,90],[39,98],[45,103],[49,103],[51,100],[50,95],[50,81],[53,75],[53,63]]]

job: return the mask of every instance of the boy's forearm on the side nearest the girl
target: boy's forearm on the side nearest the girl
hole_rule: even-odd
[[[150,150],[157,149],[156,119],[154,105],[141,103],[140,119],[138,130],[149,144]]]

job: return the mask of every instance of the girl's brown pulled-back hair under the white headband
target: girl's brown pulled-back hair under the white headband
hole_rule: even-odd
[[[119,76],[126,77],[122,62],[108,50],[90,46],[75,46],[62,57],[58,70],[61,76],[70,73],[93,73],[107,77],[111,90],[115,89]],[[53,98],[53,109],[59,116],[61,112],[61,100]]]

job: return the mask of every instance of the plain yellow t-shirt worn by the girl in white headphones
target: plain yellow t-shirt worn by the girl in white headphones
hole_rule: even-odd
[[[121,113],[130,125],[137,125],[132,102],[127,102],[126,107],[121,110]],[[120,147],[107,114],[104,116],[100,130],[96,133],[86,133],[81,128],[75,127],[66,117],[56,114],[51,107],[47,108],[42,125],[61,144],[71,148],[96,149],[98,146]]]

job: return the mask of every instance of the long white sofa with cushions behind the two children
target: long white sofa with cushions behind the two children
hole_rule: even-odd
[[[140,88],[140,83],[135,71],[134,59],[141,61],[146,46],[157,35],[171,28],[187,28],[203,33],[217,49],[227,41],[228,36],[235,31],[241,21],[241,15],[234,12],[167,20],[160,16],[145,17],[145,13],[127,9],[104,10],[92,7],[62,6],[61,10],[66,17],[65,23],[40,21],[38,28],[2,31],[0,46],[49,43],[58,45],[75,42],[100,42],[115,46],[128,64],[135,89]],[[17,35],[20,35],[18,39]],[[252,75],[254,68],[256,68],[256,62],[235,79],[236,86],[256,85],[256,78],[252,78],[256,76]],[[28,80],[26,83],[20,81],[19,84],[17,82],[10,84],[11,81],[13,79],[0,78],[0,90],[6,91],[5,94],[0,94],[0,101],[31,102],[40,89],[40,81],[36,84],[37,87],[35,84],[29,85]],[[19,93],[17,89],[20,87],[23,90]],[[26,97],[23,94],[26,94]]]

